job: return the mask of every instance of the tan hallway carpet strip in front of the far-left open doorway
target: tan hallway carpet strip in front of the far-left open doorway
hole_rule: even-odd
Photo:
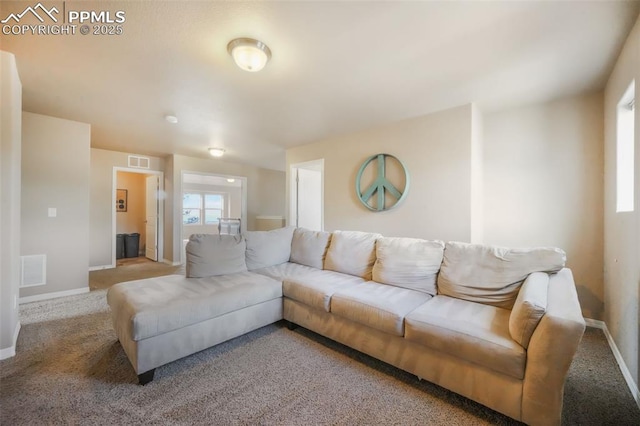
[[[125,281],[178,274],[183,271],[183,265],[171,266],[142,256],[118,259],[115,268],[89,272],[89,289],[106,289]]]

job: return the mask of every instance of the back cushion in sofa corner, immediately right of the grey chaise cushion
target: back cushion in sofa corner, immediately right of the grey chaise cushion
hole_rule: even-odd
[[[291,239],[295,228],[274,229],[271,231],[248,231],[247,269],[254,270],[288,262],[291,257]]]

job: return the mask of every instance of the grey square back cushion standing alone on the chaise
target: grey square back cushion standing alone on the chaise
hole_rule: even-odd
[[[246,243],[240,235],[193,234],[187,243],[187,278],[245,272]]]

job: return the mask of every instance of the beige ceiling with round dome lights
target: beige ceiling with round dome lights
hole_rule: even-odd
[[[36,3],[3,1],[0,18]],[[640,11],[637,1],[42,3],[122,10],[126,21],[121,35],[2,35],[26,111],[90,123],[96,148],[207,157],[215,145],[227,155],[212,161],[273,169],[287,147],[340,133],[602,89]],[[234,65],[226,45],[237,37],[271,48],[262,72]]]

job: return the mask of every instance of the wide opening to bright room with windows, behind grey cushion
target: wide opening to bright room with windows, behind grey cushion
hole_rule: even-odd
[[[182,172],[181,262],[192,234],[240,234],[247,226],[247,178]]]

